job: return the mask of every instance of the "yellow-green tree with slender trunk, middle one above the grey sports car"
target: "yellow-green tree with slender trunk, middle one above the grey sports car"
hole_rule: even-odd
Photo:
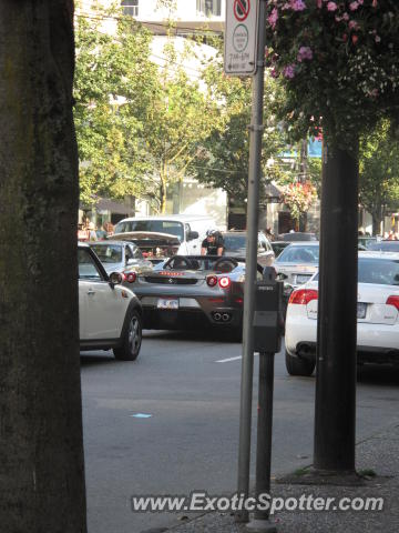
[[[181,66],[193,57],[192,43],[186,41],[177,52],[171,37],[163,50],[156,91],[143,125],[143,140],[153,179],[155,209],[166,208],[166,187],[187,174],[198,150],[217,121],[215,100],[208,98],[197,80],[188,77]]]

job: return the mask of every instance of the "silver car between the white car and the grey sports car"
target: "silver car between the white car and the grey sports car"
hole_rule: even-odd
[[[153,269],[153,263],[143,258],[142,251],[127,241],[91,241],[92,250],[102,262],[108,274],[112,272],[145,272]]]

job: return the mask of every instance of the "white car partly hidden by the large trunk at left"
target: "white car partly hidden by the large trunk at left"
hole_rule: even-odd
[[[142,308],[122,286],[122,275],[110,276],[86,243],[78,244],[80,349],[113,350],[115,359],[134,361],[142,343]]]

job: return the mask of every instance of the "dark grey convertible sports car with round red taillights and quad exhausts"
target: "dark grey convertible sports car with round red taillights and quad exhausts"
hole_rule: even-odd
[[[258,265],[262,279],[263,268]],[[175,255],[130,286],[143,306],[143,325],[154,330],[213,328],[241,336],[245,259]]]

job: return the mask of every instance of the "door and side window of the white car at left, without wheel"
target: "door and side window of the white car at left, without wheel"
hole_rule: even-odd
[[[81,340],[120,336],[129,298],[121,286],[112,288],[103,279],[88,249],[79,250],[79,314]],[[126,292],[126,291],[124,291]]]

